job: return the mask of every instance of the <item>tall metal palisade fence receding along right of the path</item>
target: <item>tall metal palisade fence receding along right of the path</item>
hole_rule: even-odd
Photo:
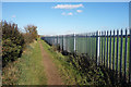
[[[131,83],[131,28],[86,34],[71,34],[41,37],[45,41],[70,53],[87,54],[118,73],[118,77]]]

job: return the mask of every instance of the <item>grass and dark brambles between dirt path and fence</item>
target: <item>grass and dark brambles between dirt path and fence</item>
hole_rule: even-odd
[[[104,66],[97,66],[96,62],[87,59],[86,54],[74,54],[58,50],[59,47],[50,47],[43,42],[44,49],[50,53],[61,76],[67,85],[88,85],[88,86],[128,86],[118,83],[114,71]],[[62,53],[60,53],[62,52]],[[66,55],[64,55],[66,54]]]

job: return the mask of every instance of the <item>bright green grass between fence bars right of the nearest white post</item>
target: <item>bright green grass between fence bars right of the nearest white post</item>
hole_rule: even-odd
[[[126,60],[127,61],[127,75],[129,73],[129,46],[130,46],[129,44],[130,44],[130,38],[128,38],[128,44],[127,44],[128,45],[127,46],[127,60]],[[126,46],[126,38],[122,39],[122,47],[121,47],[121,38],[119,38],[118,71],[120,71],[120,49],[122,48],[122,73],[124,69],[124,49],[126,49],[124,46]],[[114,49],[114,38],[111,38],[111,69],[112,69],[112,49]],[[110,53],[110,38],[108,39],[108,64],[109,64],[109,59],[110,59],[109,53]],[[100,51],[100,54],[102,54],[102,51]],[[103,54],[104,54],[104,46],[103,46]],[[107,63],[107,39],[106,39],[106,63]],[[117,70],[117,38],[115,38],[115,70]]]

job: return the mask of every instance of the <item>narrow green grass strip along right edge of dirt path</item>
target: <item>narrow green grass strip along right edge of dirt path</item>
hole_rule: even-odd
[[[52,48],[41,40],[44,49],[50,54],[52,62],[57,65],[60,75],[62,76],[63,83],[69,85],[75,84],[76,71],[66,63],[66,57],[59,52],[55,52]],[[79,76],[79,75],[78,75]],[[81,80],[81,79],[80,79]]]

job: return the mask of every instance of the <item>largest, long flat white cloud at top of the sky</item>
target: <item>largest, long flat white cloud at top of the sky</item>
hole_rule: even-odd
[[[52,7],[53,9],[78,9],[78,8],[84,8],[83,4],[57,4],[56,7]]]

